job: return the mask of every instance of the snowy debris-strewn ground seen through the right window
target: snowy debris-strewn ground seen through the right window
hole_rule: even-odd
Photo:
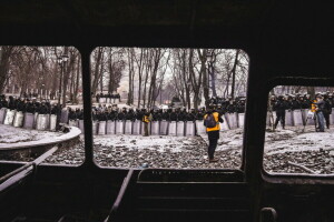
[[[307,173],[289,162],[317,174],[334,173],[334,130],[315,132],[314,127],[287,127],[266,132],[264,169],[276,173]]]

